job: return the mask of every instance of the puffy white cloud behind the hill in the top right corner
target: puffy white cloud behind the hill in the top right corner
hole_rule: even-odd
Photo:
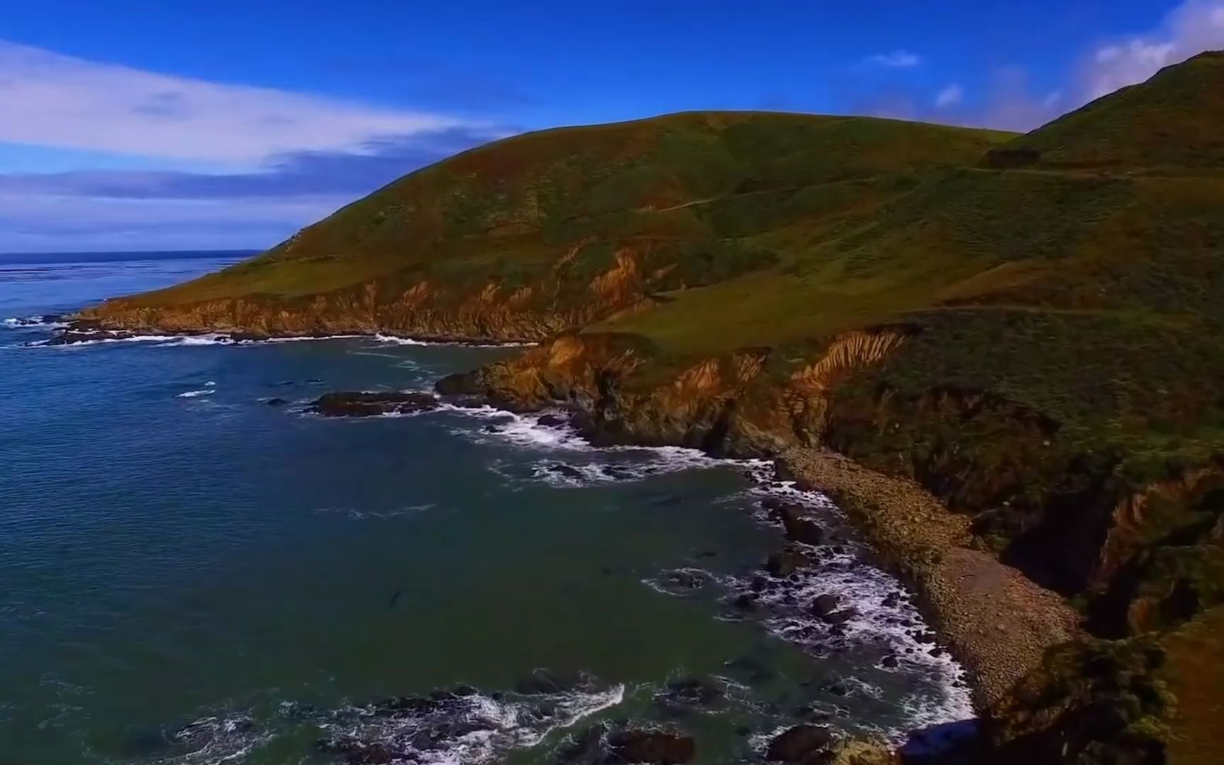
[[[1186,0],[1153,32],[1098,45],[1081,71],[1081,100],[1143,82],[1162,67],[1224,48],[1224,0]]]

